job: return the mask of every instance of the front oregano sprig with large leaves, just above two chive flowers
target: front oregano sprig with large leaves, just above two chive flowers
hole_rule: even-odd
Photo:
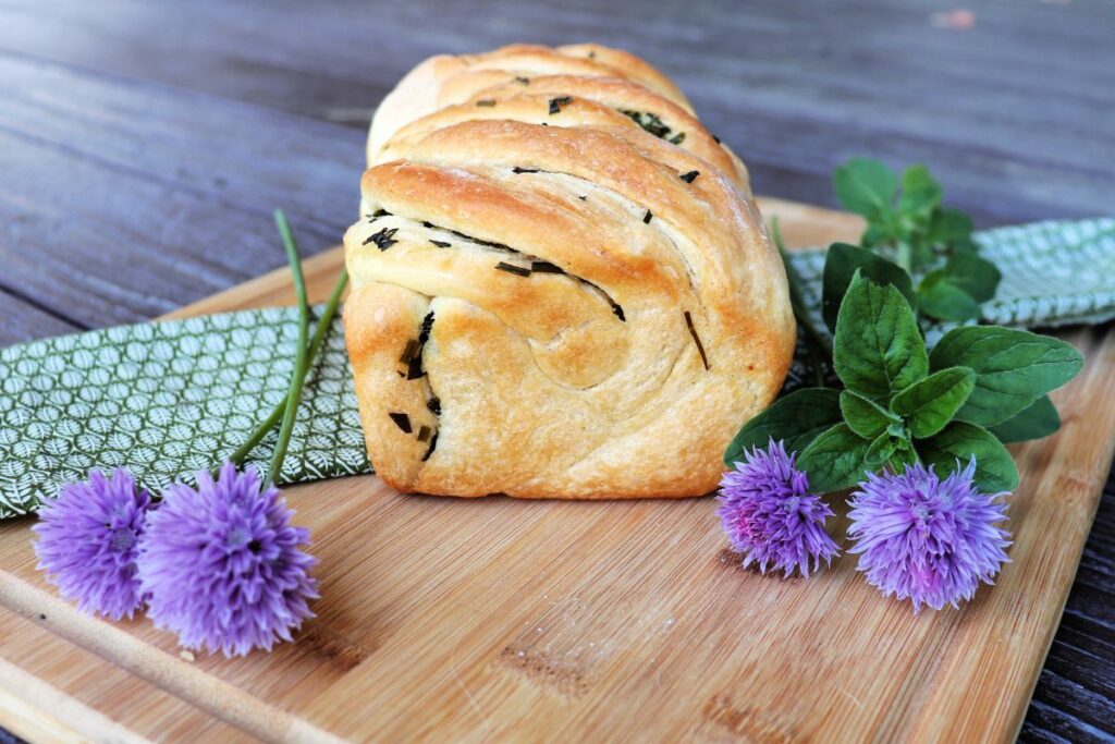
[[[798,466],[821,492],[914,463],[943,477],[972,457],[985,493],[1018,485],[1004,443],[1056,431],[1047,394],[1079,371],[1080,354],[1059,339],[997,326],[954,328],[930,352],[899,286],[855,270],[833,344],[845,389],[806,388],[777,400],[733,439],[729,466],[774,439],[799,453]]]

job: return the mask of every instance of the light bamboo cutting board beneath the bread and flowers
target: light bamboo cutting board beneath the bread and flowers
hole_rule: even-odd
[[[762,206],[794,245],[861,230]],[[307,262],[313,294],[339,265]],[[176,315],[290,301],[274,272]],[[1115,331],[1067,338],[1086,364],[1054,395],[1061,431],[1011,448],[1011,562],[960,610],[915,617],[849,555],[808,580],[740,569],[710,499],[454,500],[350,477],[287,489],[321,560],[318,618],[236,660],[80,615],[35,571],[30,521],[0,524],[0,725],[37,742],[1010,741],[1115,447]]]

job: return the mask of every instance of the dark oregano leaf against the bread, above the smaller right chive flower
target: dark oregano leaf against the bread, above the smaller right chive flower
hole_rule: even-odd
[[[824,387],[796,390],[744,424],[725,451],[724,463],[731,467],[752,447],[765,447],[770,439],[782,439],[786,452],[801,452],[840,421],[836,390]]]

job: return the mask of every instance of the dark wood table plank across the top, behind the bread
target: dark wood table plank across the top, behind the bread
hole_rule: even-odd
[[[0,48],[358,128],[428,55],[591,37],[673,75],[763,193],[833,203],[832,166],[863,153],[931,163],[981,224],[1102,213],[1115,186],[1099,0],[982,2],[969,31],[928,2],[40,4],[0,9]]]

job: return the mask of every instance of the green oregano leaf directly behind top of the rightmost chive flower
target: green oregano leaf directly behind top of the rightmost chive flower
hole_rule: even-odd
[[[1014,491],[1018,486],[1018,468],[1002,443],[981,426],[952,422],[937,436],[914,444],[922,462],[933,465],[944,477],[959,467],[967,467],[976,457],[977,487],[983,493]]]

